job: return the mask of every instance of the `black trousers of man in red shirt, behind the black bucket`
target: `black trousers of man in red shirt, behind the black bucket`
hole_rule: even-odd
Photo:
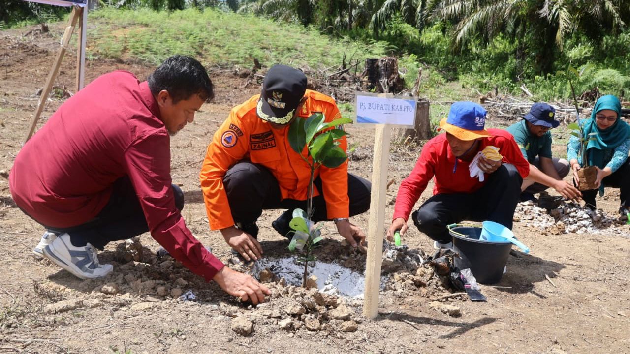
[[[452,240],[447,225],[462,220],[491,220],[512,229],[522,182],[514,165],[503,164],[474,193],[434,195],[411,218],[418,230],[441,243]]]

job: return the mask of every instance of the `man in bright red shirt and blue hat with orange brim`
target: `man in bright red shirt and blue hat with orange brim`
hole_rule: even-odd
[[[413,223],[435,240],[435,247],[452,247],[447,225],[462,220],[491,220],[512,229],[512,217],[529,163],[514,138],[505,130],[484,129],[486,110],[473,102],[455,102],[449,117],[440,122],[440,134],[422,149],[418,163],[398,189],[391,226],[394,232],[407,231],[411,209],[433,178],[433,197],[413,213]],[[488,146],[499,148],[500,161],[483,156],[478,168],[483,178],[471,176],[469,166],[479,151]],[[474,171],[474,166],[473,169]],[[481,181],[483,180],[483,181]]]

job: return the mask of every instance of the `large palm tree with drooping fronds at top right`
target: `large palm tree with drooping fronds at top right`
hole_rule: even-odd
[[[434,0],[427,8],[435,21],[455,25],[455,49],[471,40],[490,43],[498,35],[517,41],[517,52],[536,53],[538,71],[553,71],[558,51],[571,33],[593,39],[625,26],[619,12],[624,0]],[[624,10],[625,11],[625,10]]]

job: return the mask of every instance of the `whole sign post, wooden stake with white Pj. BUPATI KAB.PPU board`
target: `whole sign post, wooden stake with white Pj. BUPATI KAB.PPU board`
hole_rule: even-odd
[[[374,319],[379,313],[389,140],[392,127],[413,127],[416,101],[392,94],[357,93],[356,103],[357,123],[376,125],[363,303],[364,316]]]

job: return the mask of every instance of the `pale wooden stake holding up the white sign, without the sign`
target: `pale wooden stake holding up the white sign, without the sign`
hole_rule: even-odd
[[[380,96],[380,95],[379,95]],[[370,319],[379,313],[379,290],[381,288],[381,262],[383,253],[383,230],[387,192],[387,166],[389,164],[389,140],[391,125],[376,125],[374,137],[374,161],[372,163],[372,195],[370,197],[370,219],[367,231],[367,260],[365,265],[365,292],[363,314]]]

